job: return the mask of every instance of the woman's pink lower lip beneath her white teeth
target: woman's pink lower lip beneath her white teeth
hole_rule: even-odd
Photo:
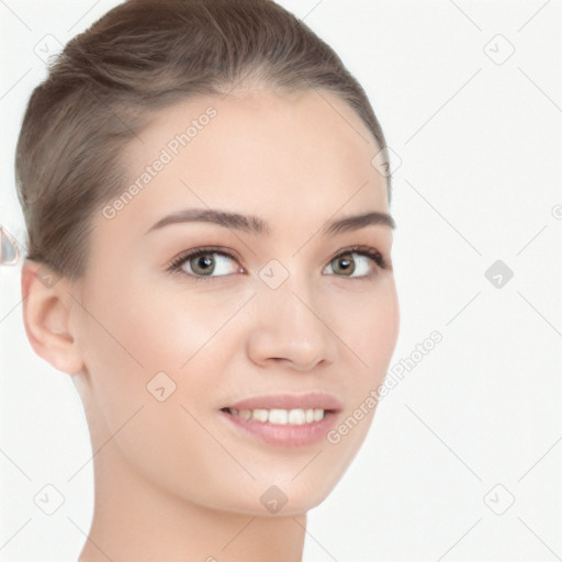
[[[337,413],[329,412],[318,422],[301,425],[270,424],[257,419],[245,419],[227,412],[218,412],[228,423],[261,439],[269,445],[284,447],[302,447],[314,445],[326,438],[326,434],[336,425]]]

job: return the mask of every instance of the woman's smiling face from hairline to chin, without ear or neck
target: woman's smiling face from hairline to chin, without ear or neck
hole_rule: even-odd
[[[181,102],[132,142],[71,310],[97,462],[229,512],[327,496],[398,334],[378,151],[313,91]]]

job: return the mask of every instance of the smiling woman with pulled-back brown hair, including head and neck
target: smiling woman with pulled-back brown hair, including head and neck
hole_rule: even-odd
[[[130,0],[68,43],[16,175],[25,330],[91,435],[80,561],[302,559],[397,339],[385,148],[269,0]]]

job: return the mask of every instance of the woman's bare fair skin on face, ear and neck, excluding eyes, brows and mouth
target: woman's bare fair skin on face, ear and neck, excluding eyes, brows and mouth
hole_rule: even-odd
[[[300,561],[306,512],[340,480],[375,409],[338,443],[294,448],[241,436],[218,409],[322,390],[342,402],[342,422],[382,384],[397,340],[392,229],[319,232],[334,218],[389,212],[371,162],[379,148],[339,98],[255,89],[183,101],[127,147],[128,181],[210,105],[216,117],[133,201],[111,220],[95,213],[83,278],[46,286],[36,263],[23,267],[30,342],[72,376],[98,451],[80,561]],[[145,235],[188,207],[252,214],[271,234],[184,223]],[[209,245],[239,260],[215,255],[223,266],[209,282],[189,266],[166,271]],[[346,277],[334,257],[353,245],[379,250],[389,269],[355,255],[358,272]],[[289,273],[274,290],[259,277],[271,259]],[[363,271],[374,274],[353,277]],[[164,402],[146,387],[159,371],[177,385]],[[277,514],[259,501],[272,485],[288,497]]]

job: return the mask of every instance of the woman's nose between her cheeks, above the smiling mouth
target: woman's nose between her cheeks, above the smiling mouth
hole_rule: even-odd
[[[277,289],[262,285],[252,305],[247,352],[256,364],[284,363],[304,372],[335,360],[337,337],[310,283],[289,276]]]

